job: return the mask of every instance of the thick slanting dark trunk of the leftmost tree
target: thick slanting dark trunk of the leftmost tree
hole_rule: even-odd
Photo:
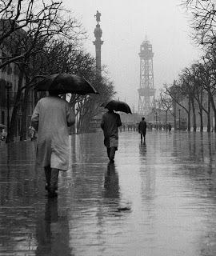
[[[24,68],[20,68],[19,78],[18,78],[18,91],[14,102],[14,109],[10,118],[10,126],[8,129],[8,134],[6,137],[6,143],[14,142],[14,128],[16,126],[18,107],[22,95],[22,81],[24,77]]]

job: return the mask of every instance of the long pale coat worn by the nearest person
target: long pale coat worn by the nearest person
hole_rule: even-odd
[[[37,162],[59,170],[69,168],[69,132],[75,116],[62,98],[48,96],[38,101],[31,126],[38,131]]]

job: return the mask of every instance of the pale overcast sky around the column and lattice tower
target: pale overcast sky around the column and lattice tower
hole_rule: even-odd
[[[178,73],[198,59],[200,51],[190,38],[189,20],[180,0],[63,0],[81,19],[88,33],[84,46],[95,56],[94,14],[102,28],[102,65],[114,81],[117,98],[138,108],[139,56],[143,40],[154,51],[154,87],[178,78]]]

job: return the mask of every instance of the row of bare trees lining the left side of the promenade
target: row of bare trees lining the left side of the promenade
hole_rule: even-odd
[[[113,96],[114,86],[107,77],[95,77],[95,60],[82,49],[86,39],[82,24],[58,0],[0,0],[0,14],[0,69],[11,63],[18,68],[18,89],[6,142],[14,141],[18,110],[22,113],[20,140],[26,139],[30,91],[34,82],[46,74],[78,74],[98,89],[97,97],[70,97],[79,117],[78,129],[86,130],[101,110],[98,106]],[[38,94],[34,98],[37,102]]]

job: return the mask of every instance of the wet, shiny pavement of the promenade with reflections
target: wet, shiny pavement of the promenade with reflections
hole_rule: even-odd
[[[120,133],[107,165],[102,133],[71,137],[58,198],[44,190],[34,142],[0,144],[0,255],[216,254],[215,134]]]

